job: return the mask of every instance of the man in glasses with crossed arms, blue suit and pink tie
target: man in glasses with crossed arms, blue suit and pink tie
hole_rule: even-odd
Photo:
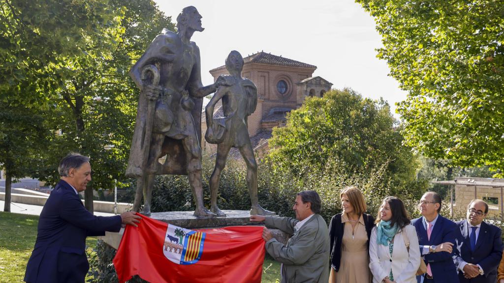
[[[426,192],[420,199],[422,217],[414,219],[420,244],[420,254],[427,264],[427,272],[417,276],[418,283],[459,283],[457,268],[453,263],[452,246],[457,238],[457,225],[439,215],[441,196],[436,192]]]

